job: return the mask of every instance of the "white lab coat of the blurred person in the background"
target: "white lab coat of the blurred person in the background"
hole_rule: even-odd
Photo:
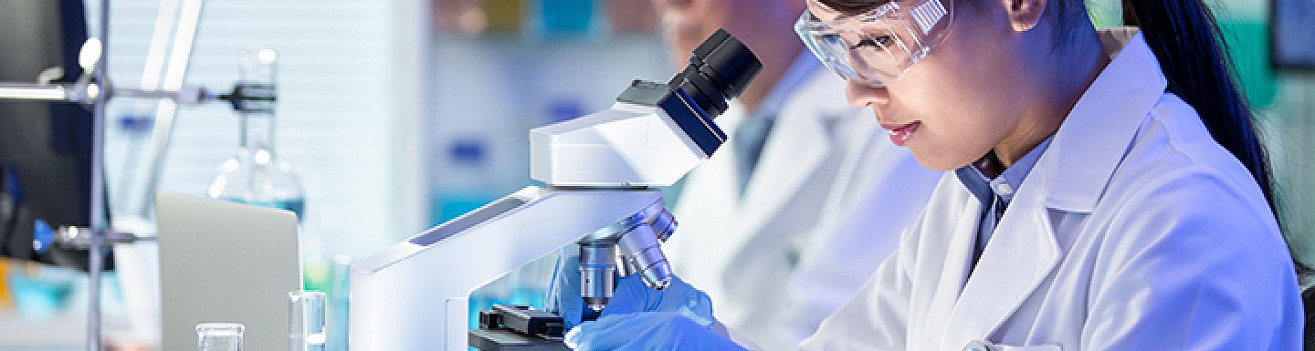
[[[715,317],[765,350],[794,350],[863,287],[940,177],[892,145],[869,110],[849,108],[842,79],[811,66],[782,101],[743,201],[727,142],[685,180],[663,247]],[[734,139],[743,118],[732,105],[717,122]]]

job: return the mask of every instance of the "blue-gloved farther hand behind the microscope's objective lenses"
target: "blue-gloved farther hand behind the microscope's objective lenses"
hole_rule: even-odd
[[[569,330],[580,325],[585,313],[592,313],[580,298],[579,246],[568,245],[562,248],[552,275],[546,309],[560,314],[565,322],[564,327]],[[639,275],[617,277],[617,289],[611,294],[611,301],[600,316],[638,312],[673,312],[705,327],[717,322],[713,318],[713,302],[707,294],[690,287],[680,277],[673,276],[671,285],[661,291],[648,288]]]

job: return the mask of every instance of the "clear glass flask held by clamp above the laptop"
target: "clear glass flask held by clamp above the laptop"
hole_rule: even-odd
[[[275,70],[277,53],[242,50],[241,79],[233,93],[238,110],[238,151],[220,164],[210,183],[212,199],[291,210],[302,218],[305,197],[292,164],[274,152]]]

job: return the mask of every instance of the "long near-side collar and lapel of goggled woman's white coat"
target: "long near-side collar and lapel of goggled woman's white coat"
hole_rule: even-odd
[[[976,235],[976,226],[956,230],[952,243],[957,245],[949,252],[963,255],[947,258],[947,272],[972,273],[957,297],[939,300],[953,306],[940,314],[947,318],[940,350],[993,337],[1041,287],[1064,251],[1052,227],[1053,212],[1089,213],[1095,206],[1143,118],[1164,95],[1164,75],[1140,34],[1116,53],[1019,187],[976,268],[970,267],[970,246],[964,245]],[[972,201],[968,208],[976,205]],[[960,223],[976,220],[964,216]]]

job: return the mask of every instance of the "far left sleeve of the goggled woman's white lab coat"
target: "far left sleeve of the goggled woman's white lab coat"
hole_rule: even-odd
[[[923,217],[901,235],[899,247],[877,267],[872,277],[817,333],[800,343],[800,350],[857,351],[905,350],[910,293],[909,264],[913,246],[909,233],[920,227]]]

